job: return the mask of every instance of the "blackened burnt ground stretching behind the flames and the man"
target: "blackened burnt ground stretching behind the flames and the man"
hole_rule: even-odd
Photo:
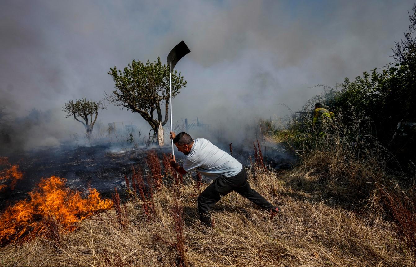
[[[225,147],[220,148],[227,151]],[[163,153],[171,153],[168,146],[155,149],[160,159]],[[52,175],[65,178],[70,189],[77,190],[84,196],[88,194],[90,187],[96,188],[107,198],[111,198],[114,188],[123,195],[126,188],[124,175],[131,177],[133,166],[147,169],[148,150],[146,147],[114,147],[110,144],[66,145],[10,155],[10,163],[19,165],[23,178],[17,182],[15,189],[6,189],[0,193],[0,211],[17,200],[29,197],[27,193],[35,188],[42,177]],[[179,162],[185,157],[177,150],[175,156]],[[250,152],[235,148],[233,156],[245,166],[250,164]],[[274,149],[267,149],[264,156],[267,165],[274,168],[291,167],[294,162],[293,155],[287,155],[287,152],[283,154]],[[254,160],[253,153],[251,157]]]

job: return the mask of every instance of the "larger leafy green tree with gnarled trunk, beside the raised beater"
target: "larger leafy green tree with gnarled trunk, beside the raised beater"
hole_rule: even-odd
[[[165,125],[169,118],[169,67],[162,65],[158,57],[152,63],[133,60],[123,72],[114,66],[108,74],[113,78],[116,89],[111,95],[106,94],[106,100],[139,113],[156,136],[159,124]],[[175,70],[172,73],[172,98],[178,95],[182,87],[186,87],[186,80]],[[161,106],[164,106],[164,118]]]

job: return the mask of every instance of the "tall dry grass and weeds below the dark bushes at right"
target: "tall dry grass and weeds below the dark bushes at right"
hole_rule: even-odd
[[[411,197],[415,179],[389,168],[392,162],[396,169],[400,165],[376,137],[366,134],[365,118],[357,116],[348,124],[345,119],[339,114],[333,122],[297,135],[292,143],[301,164],[284,174],[285,185],[295,188],[301,198],[323,199],[394,222],[397,235],[416,258],[416,198]]]

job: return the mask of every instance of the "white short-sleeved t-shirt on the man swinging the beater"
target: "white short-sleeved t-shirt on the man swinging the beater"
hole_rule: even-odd
[[[234,176],[243,169],[243,165],[238,160],[214,146],[207,139],[198,138],[193,142],[191,152],[182,166],[187,172],[196,169],[202,175],[216,179],[221,175]]]

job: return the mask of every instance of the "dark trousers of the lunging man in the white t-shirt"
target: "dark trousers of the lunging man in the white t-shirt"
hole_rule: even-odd
[[[199,195],[198,211],[199,219],[202,223],[205,223],[207,226],[212,226],[211,207],[231,191],[237,192],[267,211],[270,211],[274,207],[273,204],[250,187],[247,181],[247,172],[243,166],[243,169],[237,175],[232,177],[226,177],[225,175],[218,177]]]

